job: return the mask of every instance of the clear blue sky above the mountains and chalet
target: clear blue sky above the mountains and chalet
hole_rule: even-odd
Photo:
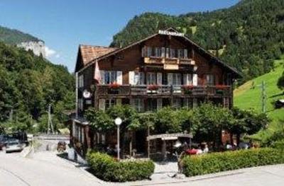
[[[80,44],[109,46],[112,36],[144,12],[212,11],[239,0],[0,0],[0,25],[46,45],[48,59],[74,71]]]

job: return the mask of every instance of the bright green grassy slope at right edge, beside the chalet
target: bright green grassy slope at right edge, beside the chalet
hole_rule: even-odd
[[[241,109],[253,108],[257,112],[261,112],[261,88],[258,86],[262,81],[266,82],[266,110],[268,117],[272,119],[268,129],[272,132],[277,129],[279,120],[284,120],[284,109],[275,110],[273,107],[273,100],[284,99],[283,93],[277,87],[277,81],[284,71],[284,56],[281,60],[275,62],[275,70],[263,76],[258,76],[244,83],[234,91],[234,105]],[[254,85],[254,88],[252,88]]]

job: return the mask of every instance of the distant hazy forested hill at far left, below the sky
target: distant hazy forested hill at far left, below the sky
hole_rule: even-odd
[[[17,45],[21,42],[40,41],[38,38],[33,37],[27,33],[22,33],[19,30],[5,28],[0,26],[0,42],[5,42],[10,45]]]

